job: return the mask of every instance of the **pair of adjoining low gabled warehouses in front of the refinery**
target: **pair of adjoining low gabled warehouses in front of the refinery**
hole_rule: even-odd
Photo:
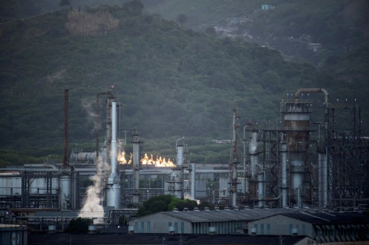
[[[367,240],[369,218],[359,212],[288,208],[158,212],[130,221],[135,233],[306,235],[316,241]]]

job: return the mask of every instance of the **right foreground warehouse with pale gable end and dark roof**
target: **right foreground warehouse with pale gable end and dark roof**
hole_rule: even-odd
[[[369,217],[360,212],[289,212],[249,222],[250,235],[307,235],[321,242],[369,239]]]

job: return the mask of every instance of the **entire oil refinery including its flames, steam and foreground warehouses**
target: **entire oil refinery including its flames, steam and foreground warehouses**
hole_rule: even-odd
[[[320,122],[311,120],[313,102],[301,99],[303,93],[324,98],[323,107],[316,109],[323,115]],[[187,156],[182,137],[173,142],[173,161],[143,154],[135,128],[126,130],[133,152],[125,152],[126,139],[118,137],[120,101],[113,87],[96,96],[96,125],[104,106],[106,131],[96,127],[95,151],[76,146],[69,152],[68,90],[64,97],[63,162],[0,169],[1,223],[58,231],[76,217],[93,218],[103,226],[116,226],[123,217],[132,233],[298,233],[327,242],[369,239],[365,214],[369,138],[363,135],[355,101],[334,104],[325,89],[298,89],[293,98],[281,100],[281,116],[268,127],[251,120],[241,125],[234,108],[230,139],[222,141],[230,146],[229,162],[197,164]],[[105,135],[104,142],[100,134]],[[216,184],[210,186],[209,179]],[[162,194],[208,201],[216,210],[135,218],[145,200]],[[219,210],[220,206],[226,210]],[[155,223],[158,219],[166,223]],[[286,226],[277,229],[276,222],[285,219]],[[297,226],[292,219],[298,220]]]

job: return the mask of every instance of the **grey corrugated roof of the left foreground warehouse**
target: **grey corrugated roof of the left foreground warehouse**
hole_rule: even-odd
[[[209,210],[160,212],[161,214],[183,219],[189,222],[222,222],[222,221],[253,221],[279,213],[291,212],[285,208],[241,209],[241,210]],[[151,214],[153,215],[153,214]],[[139,219],[138,217],[136,219]]]

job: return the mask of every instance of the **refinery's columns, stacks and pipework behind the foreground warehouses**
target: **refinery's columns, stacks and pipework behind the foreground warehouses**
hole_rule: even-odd
[[[92,187],[98,198],[96,205],[104,207],[104,217],[108,210],[137,208],[149,197],[160,194],[236,209],[245,206],[362,210],[369,202],[369,140],[361,131],[360,108],[355,102],[335,105],[325,89],[299,89],[292,100],[281,101],[283,123],[262,128],[255,122],[246,122],[243,139],[237,110],[232,109],[228,163],[191,162],[186,157],[185,139],[179,138],[175,142],[175,164],[149,164],[143,161],[137,129],[129,130],[131,159],[120,159],[124,153],[124,144],[119,143],[122,140],[118,137],[120,102],[113,91],[111,87],[96,98],[97,125],[101,117],[99,98],[106,98],[105,142],[100,142],[97,128],[95,152],[76,147],[69,154],[65,90],[63,163],[0,169],[1,208],[80,210],[89,200]],[[324,95],[322,122],[311,122],[312,102],[300,99],[302,93]],[[91,176],[93,179],[88,180]],[[208,179],[215,181],[216,186],[210,188]],[[91,188],[86,186],[91,182]],[[89,217],[95,217],[91,210]]]

